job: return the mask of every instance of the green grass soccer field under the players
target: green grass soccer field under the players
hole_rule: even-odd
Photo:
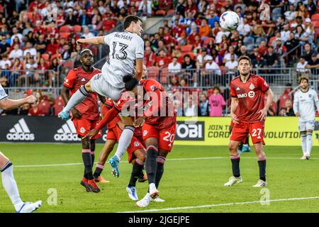
[[[79,144],[13,143],[1,144],[0,147],[15,166],[14,174],[23,201],[43,201],[37,212],[150,209],[157,212],[319,212],[318,148],[313,148],[311,160],[299,160],[300,148],[265,147],[270,204],[262,205],[259,202],[261,189],[252,187],[259,176],[254,153],[241,155],[244,182],[234,187],[223,187],[231,176],[227,147],[176,145],[167,157],[159,185],[159,196],[165,202],[152,202],[146,209],[139,209],[134,201],[128,199],[125,191],[132,168],[127,162],[121,163],[119,178],[111,176],[111,168],[106,165],[103,176],[111,180],[111,184],[99,184],[101,192],[94,194],[86,192],[79,184],[84,169]],[[97,145],[96,153],[101,147]],[[126,156],[122,160],[126,160]],[[48,189],[57,190],[56,205],[47,204]],[[137,190],[142,199],[147,192],[147,182],[137,183]],[[283,200],[272,201],[276,199]],[[0,212],[13,212],[3,187],[0,187],[0,201]],[[167,210],[169,208],[171,210]]]

